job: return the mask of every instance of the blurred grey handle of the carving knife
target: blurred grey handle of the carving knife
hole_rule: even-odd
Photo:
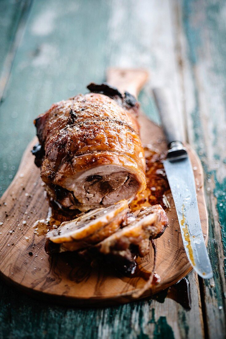
[[[153,94],[162,120],[168,146],[174,141],[183,142],[181,128],[177,121],[177,105],[173,100],[172,93],[168,88],[154,88]]]

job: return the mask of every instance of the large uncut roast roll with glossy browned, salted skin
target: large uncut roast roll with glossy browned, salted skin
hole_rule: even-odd
[[[84,212],[131,201],[146,187],[139,104],[107,84],[88,88],[35,120],[40,145],[33,151],[48,195]]]

